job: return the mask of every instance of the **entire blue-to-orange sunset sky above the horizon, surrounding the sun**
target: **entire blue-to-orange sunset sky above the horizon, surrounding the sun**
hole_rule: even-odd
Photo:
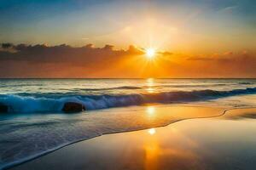
[[[0,77],[256,77],[255,8],[254,0],[0,0]]]

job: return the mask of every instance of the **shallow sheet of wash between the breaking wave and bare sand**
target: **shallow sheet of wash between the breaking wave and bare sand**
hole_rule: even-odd
[[[143,105],[79,114],[15,115],[0,126],[0,169],[102,134],[163,127],[223,113],[224,108],[213,106]]]

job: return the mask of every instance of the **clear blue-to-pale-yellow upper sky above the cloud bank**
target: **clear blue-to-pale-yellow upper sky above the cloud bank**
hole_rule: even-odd
[[[185,35],[193,39],[198,43],[196,47],[203,40],[207,41],[209,44],[203,44],[207,47],[202,47],[202,50],[213,50],[214,37],[230,42],[229,46],[219,48],[254,48],[255,8],[256,1],[253,0],[1,0],[0,41],[75,46],[110,43],[124,48],[129,44],[143,46],[143,41],[148,41],[136,40],[137,35],[133,37],[135,34],[141,35],[142,39],[148,36],[143,35],[143,26],[149,30],[148,34],[155,36],[155,41],[165,38],[159,32],[166,31],[163,26],[169,26],[179,30],[180,37]],[[124,36],[120,33],[131,26],[134,30],[130,34]],[[153,33],[148,26],[154,27]],[[242,44],[236,42],[236,37],[243,41]],[[177,48],[173,49],[181,50],[183,47],[179,44],[191,42],[170,33],[165,43],[162,48],[174,44]]]

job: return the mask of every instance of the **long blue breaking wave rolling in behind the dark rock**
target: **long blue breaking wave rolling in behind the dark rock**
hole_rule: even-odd
[[[49,98],[47,95],[35,98],[15,94],[2,94],[0,95],[0,104],[9,105],[11,112],[54,112],[61,111],[66,102],[80,103],[85,106],[86,110],[97,110],[149,103],[192,102],[241,94],[256,94],[256,88],[234,89],[230,91],[172,91],[155,94],[76,95],[58,98]]]

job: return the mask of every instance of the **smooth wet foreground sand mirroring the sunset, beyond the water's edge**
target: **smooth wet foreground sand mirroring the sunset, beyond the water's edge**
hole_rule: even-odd
[[[236,109],[166,127],[105,134],[11,169],[253,169],[255,115],[256,109]]]

